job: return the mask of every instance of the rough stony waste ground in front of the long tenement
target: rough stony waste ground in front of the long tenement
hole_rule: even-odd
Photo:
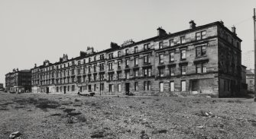
[[[0,93],[0,138],[256,138],[253,99]]]

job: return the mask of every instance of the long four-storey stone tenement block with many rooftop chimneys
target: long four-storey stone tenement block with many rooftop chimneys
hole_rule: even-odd
[[[241,39],[223,22],[177,33],[157,29],[139,42],[111,43],[94,52],[87,47],[76,58],[35,66],[32,90],[40,93],[166,95],[201,93],[236,96],[241,89]]]

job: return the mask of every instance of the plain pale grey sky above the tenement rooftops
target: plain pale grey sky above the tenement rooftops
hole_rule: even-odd
[[[0,0],[0,83],[13,68],[30,69],[63,53],[76,57],[87,46],[108,49],[157,36],[224,21],[237,28],[243,52],[254,49],[255,0]]]

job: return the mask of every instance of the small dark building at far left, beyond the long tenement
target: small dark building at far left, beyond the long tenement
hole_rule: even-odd
[[[31,71],[13,69],[5,74],[5,88],[8,92],[31,92]]]

